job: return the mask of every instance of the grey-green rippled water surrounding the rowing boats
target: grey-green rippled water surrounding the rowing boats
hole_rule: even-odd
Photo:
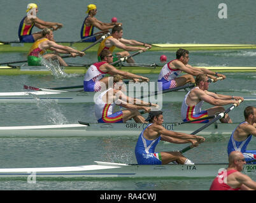
[[[97,18],[110,22],[113,16],[124,24],[124,38],[150,43],[255,43],[255,1],[225,1],[227,19],[218,18],[218,1],[94,1]],[[85,17],[87,2],[38,1],[38,17],[46,21],[64,23],[55,32],[57,41],[78,41]],[[15,5],[15,9],[13,9]],[[17,39],[18,23],[25,15],[27,2],[1,1],[0,32],[3,41]],[[83,8],[83,9],[82,9]],[[115,12],[113,12],[113,8]],[[10,17],[11,16],[11,17]],[[53,20],[54,19],[54,20]],[[6,23],[8,22],[8,23]],[[6,25],[7,24],[7,25]],[[8,26],[8,27],[7,27]],[[37,29],[34,28],[34,31]],[[97,30],[96,30],[97,32]],[[146,52],[135,56],[138,63],[159,63],[160,55],[172,60],[174,51]],[[248,66],[255,67],[256,51],[190,51],[194,66]],[[0,53],[0,63],[25,60],[26,53]],[[70,63],[96,62],[95,53],[83,58],[68,58]],[[210,84],[210,91],[256,92],[255,73],[227,73],[227,79]],[[144,74],[151,81],[157,75]],[[24,91],[23,85],[53,88],[75,86],[83,82],[83,75],[0,75],[1,92]],[[255,101],[241,103],[230,112],[234,122],[243,121],[243,110]],[[166,122],[181,121],[181,103],[164,104]],[[204,104],[204,108],[210,105]],[[90,103],[57,104],[41,102],[27,105],[1,104],[0,126],[40,124],[70,124],[78,120],[96,122]],[[229,138],[208,138],[200,147],[185,155],[194,162],[227,162],[226,145]],[[252,139],[249,150],[253,150]],[[136,138],[1,138],[1,167],[52,167],[93,164],[94,160],[135,163]],[[180,150],[187,145],[159,143],[157,151]],[[251,176],[256,180],[255,174]],[[29,184],[25,179],[0,180],[1,190],[208,190],[211,178],[150,178],[150,179],[46,179]]]

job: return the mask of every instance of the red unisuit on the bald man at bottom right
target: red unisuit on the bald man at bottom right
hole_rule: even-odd
[[[224,170],[221,173],[218,173],[218,176],[211,183],[210,190],[240,190],[240,188],[231,188],[227,183],[224,183],[224,180],[227,180],[227,176],[232,173],[238,172],[234,169],[232,170]]]

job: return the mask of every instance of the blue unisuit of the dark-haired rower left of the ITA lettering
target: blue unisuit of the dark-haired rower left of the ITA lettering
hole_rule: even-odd
[[[148,124],[148,126],[151,125],[152,123]],[[148,128],[148,126],[146,126],[146,128]],[[145,129],[143,129],[141,134],[139,134],[135,147],[137,162],[138,164],[161,165],[161,155],[160,153],[155,152],[155,147],[159,143],[161,136],[155,138],[155,140],[146,140],[146,138],[143,136]]]

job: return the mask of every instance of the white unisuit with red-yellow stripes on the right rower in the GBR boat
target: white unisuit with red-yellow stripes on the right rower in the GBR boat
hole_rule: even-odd
[[[199,88],[199,87],[195,87],[195,88]],[[193,88],[193,89],[195,89],[195,88]],[[187,93],[187,95],[185,95],[185,98],[181,105],[181,118],[183,119],[183,122],[193,121],[196,119],[208,117],[207,110],[202,111],[202,109],[201,109],[204,101],[199,101],[199,103],[197,103],[197,105],[192,106],[192,107],[189,107],[187,105],[187,97],[190,94],[190,92],[193,91],[193,89],[190,89],[190,91],[188,91],[188,93]],[[195,121],[195,122],[209,122],[209,120]]]

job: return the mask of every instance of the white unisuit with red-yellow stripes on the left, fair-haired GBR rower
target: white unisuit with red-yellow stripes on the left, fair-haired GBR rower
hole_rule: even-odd
[[[113,91],[112,88],[107,89],[101,93],[95,101],[95,115],[98,122],[123,122],[123,112],[122,110],[113,113],[113,108],[115,107],[115,102],[105,103],[103,101],[103,96],[108,92]]]

